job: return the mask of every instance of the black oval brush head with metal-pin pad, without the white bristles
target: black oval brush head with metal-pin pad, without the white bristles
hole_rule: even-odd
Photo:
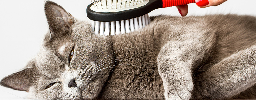
[[[100,0],[87,7],[87,17],[94,21],[120,21],[143,16],[162,8],[162,0]]]

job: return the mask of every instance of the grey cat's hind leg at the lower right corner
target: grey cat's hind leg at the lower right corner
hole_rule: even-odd
[[[224,58],[195,77],[192,98],[229,99],[255,84],[256,45],[253,45]]]

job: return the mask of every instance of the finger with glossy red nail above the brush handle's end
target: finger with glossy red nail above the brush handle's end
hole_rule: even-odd
[[[222,4],[227,0],[196,0],[196,5],[202,8],[209,7],[209,6],[217,6]]]

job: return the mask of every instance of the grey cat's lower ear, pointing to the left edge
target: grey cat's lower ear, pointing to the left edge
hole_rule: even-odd
[[[30,83],[32,82],[32,69],[25,68],[19,72],[13,73],[9,76],[4,77],[0,85],[14,90],[26,91],[28,92]]]

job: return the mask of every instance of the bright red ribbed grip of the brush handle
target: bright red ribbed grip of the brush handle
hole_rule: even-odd
[[[195,3],[196,0],[163,0],[163,8]]]

